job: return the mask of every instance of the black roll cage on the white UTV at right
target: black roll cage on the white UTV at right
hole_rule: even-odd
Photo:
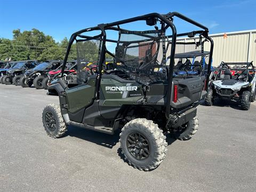
[[[222,70],[226,69],[225,66],[228,69],[237,71],[238,76],[243,74],[244,71],[246,71],[246,82],[249,80],[250,71],[252,72],[252,76],[255,75],[255,68],[253,66],[253,61],[251,62],[223,62],[221,61],[220,66],[218,68],[217,74],[215,75],[214,81],[217,81],[220,79],[220,76],[222,74]],[[233,68],[230,68],[230,66],[234,66]],[[249,67],[252,67],[252,69],[249,69]]]

